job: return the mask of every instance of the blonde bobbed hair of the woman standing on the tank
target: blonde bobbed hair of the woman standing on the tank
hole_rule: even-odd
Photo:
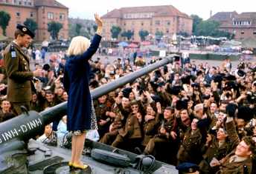
[[[76,36],[71,40],[68,47],[68,56],[77,56],[83,54],[90,46],[91,41],[83,36]]]

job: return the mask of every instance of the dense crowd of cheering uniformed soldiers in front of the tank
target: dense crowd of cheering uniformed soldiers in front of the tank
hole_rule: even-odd
[[[157,61],[152,58],[150,63]],[[228,63],[227,63],[228,62]],[[147,66],[143,58],[118,58],[112,64],[90,60],[93,90]],[[217,67],[173,61],[125,87],[95,99],[99,141],[156,156],[177,165],[197,164],[202,173],[253,173],[256,141],[256,64],[230,61]],[[65,58],[35,64],[31,110],[38,112],[67,101],[63,87]],[[13,118],[4,69],[0,72],[0,121]],[[64,124],[63,124],[64,122]],[[65,127],[65,119],[58,131]],[[48,129],[48,127],[47,127]],[[64,129],[65,130],[65,129]],[[50,135],[51,133],[48,133]],[[45,136],[48,138],[48,136]]]

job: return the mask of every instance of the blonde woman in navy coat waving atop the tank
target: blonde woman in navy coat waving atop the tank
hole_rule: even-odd
[[[77,36],[71,40],[64,73],[64,87],[68,91],[67,130],[73,133],[71,161],[68,165],[82,170],[88,167],[80,160],[86,130],[97,130],[95,109],[89,90],[89,59],[99,47],[103,26],[97,14],[95,14],[95,22],[97,31],[92,43],[83,36]]]

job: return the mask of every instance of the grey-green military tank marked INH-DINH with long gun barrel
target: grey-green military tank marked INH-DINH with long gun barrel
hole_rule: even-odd
[[[168,56],[155,64],[97,87],[91,92],[92,98],[103,96],[164,64],[171,63],[173,58],[174,56]],[[66,107],[67,102],[63,102],[41,113],[22,107],[22,115],[2,122],[0,173],[178,173],[174,166],[156,161],[152,155],[137,155],[89,140],[86,140],[86,151],[82,158],[84,163],[89,164],[88,169],[70,170],[70,149],[42,144],[33,139],[36,135],[42,135],[45,125],[65,116]]]

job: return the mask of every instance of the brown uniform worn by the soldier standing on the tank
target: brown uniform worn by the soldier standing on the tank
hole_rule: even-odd
[[[30,106],[33,72],[29,67],[29,58],[14,42],[4,50],[4,66],[7,73],[7,100],[13,104],[16,114],[21,114],[20,106]]]

